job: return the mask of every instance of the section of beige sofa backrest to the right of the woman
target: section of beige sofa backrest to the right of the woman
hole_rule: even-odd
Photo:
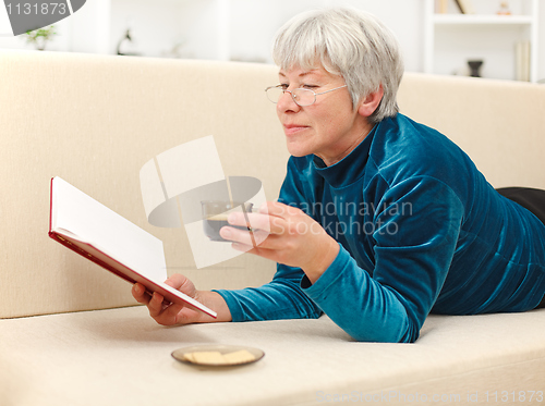
[[[410,73],[398,101],[458,144],[495,187],[545,189],[545,86]]]

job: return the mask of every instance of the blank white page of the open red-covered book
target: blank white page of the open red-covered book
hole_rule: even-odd
[[[162,283],[162,242],[60,177],[52,182],[51,231],[93,245],[143,276]]]

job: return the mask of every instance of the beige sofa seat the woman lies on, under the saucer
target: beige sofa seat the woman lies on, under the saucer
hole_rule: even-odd
[[[4,319],[0,398],[4,406],[278,406],[495,404],[507,394],[513,404],[545,391],[544,337],[545,309],[431,316],[414,344],[358,343],[327,317],[165,328],[134,306]],[[249,345],[266,355],[225,368],[170,355],[196,344]]]

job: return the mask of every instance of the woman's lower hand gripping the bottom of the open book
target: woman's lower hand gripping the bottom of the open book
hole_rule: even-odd
[[[173,288],[186,294],[187,296],[201,302],[206,307],[214,309],[218,317],[205,315],[190,306],[180,304],[166,304],[161,294],[155,292],[152,296],[146,292],[144,285],[135,283],[132,288],[133,297],[136,302],[147,306],[149,316],[154,318],[159,324],[173,325],[173,324],[190,324],[190,323],[204,323],[213,321],[231,321],[231,312],[227,307],[223,298],[215,292],[197,291],[193,282],[181,274],[174,274],[165,283]]]

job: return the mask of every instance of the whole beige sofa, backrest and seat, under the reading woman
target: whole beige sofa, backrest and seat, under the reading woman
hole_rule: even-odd
[[[164,328],[131,286],[50,239],[59,175],[165,243],[199,288],[267,282],[243,255],[195,269],[183,229],[148,224],[138,171],[214,135],[226,174],[277,197],[288,153],[269,65],[0,51],[0,404],[545,404],[545,309],[431,316],[415,344],[353,342],[327,317]],[[495,186],[545,188],[545,87],[407,74],[401,111],[443,131]],[[171,352],[239,344],[266,356],[195,368]]]

